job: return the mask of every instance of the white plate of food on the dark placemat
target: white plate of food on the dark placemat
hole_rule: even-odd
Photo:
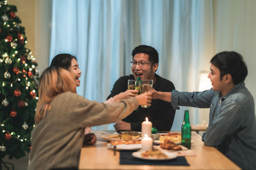
[[[133,152],[132,156],[138,159],[147,159],[147,160],[169,160],[169,159],[175,159],[177,157],[177,153],[162,152],[160,150],[149,150],[149,151]]]

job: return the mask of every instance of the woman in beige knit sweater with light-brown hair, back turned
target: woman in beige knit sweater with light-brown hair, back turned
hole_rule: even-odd
[[[76,94],[74,81],[65,69],[49,67],[40,76],[28,169],[76,169],[84,127],[116,122],[151,103],[151,92],[114,104],[89,101]]]

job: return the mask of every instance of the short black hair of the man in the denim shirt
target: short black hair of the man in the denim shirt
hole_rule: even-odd
[[[225,74],[231,74],[235,85],[245,80],[248,70],[243,57],[237,52],[220,52],[211,59],[211,64],[220,69],[220,79]]]

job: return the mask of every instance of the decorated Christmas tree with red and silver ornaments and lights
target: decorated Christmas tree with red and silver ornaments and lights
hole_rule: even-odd
[[[0,159],[29,152],[38,100],[37,63],[16,12],[0,0]]]

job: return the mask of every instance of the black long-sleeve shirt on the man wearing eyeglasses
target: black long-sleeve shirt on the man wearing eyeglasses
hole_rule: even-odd
[[[172,92],[172,90],[175,89],[171,81],[166,80],[157,74],[155,74],[155,76],[156,82],[154,83],[153,88],[157,91]],[[134,76],[130,74],[129,76],[122,76],[116,80],[113,89],[111,90],[111,94],[107,99],[127,90],[128,80],[134,80]],[[138,111],[133,111],[131,115],[123,120],[124,122],[131,123],[132,131],[141,131],[141,122],[145,121],[146,117],[152,122],[152,127],[156,127],[158,131],[170,131],[175,117],[175,110],[173,110],[172,104],[168,102],[152,99],[149,108],[139,107]]]

